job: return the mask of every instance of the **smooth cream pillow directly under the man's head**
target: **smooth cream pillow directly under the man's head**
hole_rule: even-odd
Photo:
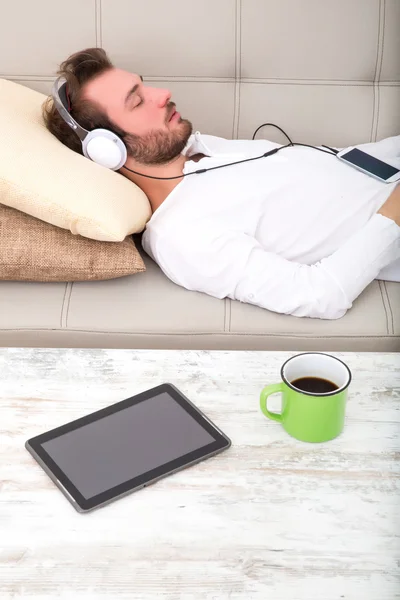
[[[142,231],[151,214],[146,195],[59,142],[44,125],[45,98],[0,79],[0,202],[95,240]]]

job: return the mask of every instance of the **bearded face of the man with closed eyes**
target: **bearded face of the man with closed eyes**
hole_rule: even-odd
[[[147,86],[140,75],[110,69],[90,81],[84,98],[97,103],[129,135],[128,156],[147,165],[167,163],[187,144],[193,127],[170,102],[169,90]]]

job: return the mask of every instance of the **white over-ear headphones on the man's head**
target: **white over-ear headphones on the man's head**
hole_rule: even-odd
[[[66,80],[63,77],[58,77],[53,85],[52,97],[60,116],[81,140],[84,156],[102,167],[117,171],[123,167],[127,159],[124,142],[108,129],[87,131],[81,127],[68,110],[66,87]]]

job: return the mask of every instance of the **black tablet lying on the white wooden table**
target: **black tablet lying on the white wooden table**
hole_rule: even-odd
[[[25,444],[79,512],[104,506],[230,445],[229,438],[169,383]]]

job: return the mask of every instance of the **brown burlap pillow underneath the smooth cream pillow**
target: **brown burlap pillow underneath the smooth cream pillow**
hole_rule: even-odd
[[[89,240],[0,204],[0,279],[94,281],[142,271],[131,236],[118,243]]]

